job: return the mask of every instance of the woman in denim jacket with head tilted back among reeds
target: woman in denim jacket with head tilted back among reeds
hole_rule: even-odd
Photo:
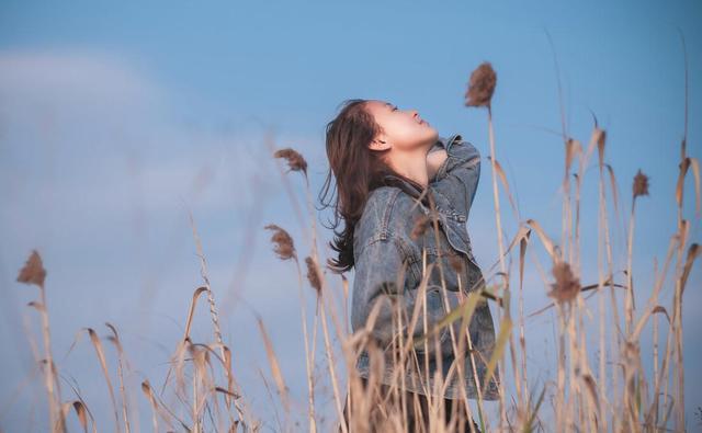
[[[478,399],[482,392],[485,400],[497,399],[498,372],[487,386],[483,383],[495,345],[484,298],[468,332],[454,321],[435,338],[414,344],[411,356],[397,363],[400,323],[401,341],[420,339],[467,293],[485,287],[466,230],[480,174],[477,149],[457,134],[440,137],[416,110],[378,100],[347,100],[327,125],[326,146],[330,170],[320,201],[333,207],[331,248],[338,253],[329,264],[338,272],[355,269],[352,329],[369,323],[371,329],[369,346],[355,364],[363,389],[371,372],[381,383],[381,398],[393,383],[401,384],[409,397],[403,413],[410,429],[427,428],[428,402],[437,407],[434,397],[443,399],[446,421],[465,414],[464,396]],[[337,196],[325,201],[332,175]],[[419,296],[422,277],[426,300]],[[417,406],[411,404],[415,397]],[[347,417],[348,409],[347,401]],[[372,413],[371,426],[380,429],[373,424],[382,418]],[[469,431],[473,423],[463,420]]]

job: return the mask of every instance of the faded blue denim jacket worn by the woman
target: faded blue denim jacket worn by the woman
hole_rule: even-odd
[[[409,182],[388,175],[385,178],[385,185],[371,192],[363,209],[363,215],[354,230],[355,275],[351,300],[351,324],[353,331],[363,329],[373,305],[376,301],[382,303],[380,314],[375,318],[372,329],[372,337],[376,345],[384,351],[385,369],[381,378],[384,384],[390,384],[396,368],[392,365],[393,351],[390,350],[390,342],[394,337],[393,311],[397,309],[397,305],[394,303],[399,303],[401,307],[404,339],[406,339],[407,323],[412,317],[415,301],[419,301],[416,296],[424,263],[435,263],[427,285],[426,319],[429,328],[449,311],[445,309],[443,301],[444,290],[442,289],[439,266],[443,267],[445,294],[448,295],[450,309],[455,308],[461,303],[463,296],[458,293],[460,290],[463,294],[467,294],[469,290],[485,287],[485,278],[473,255],[471,238],[466,229],[466,220],[480,176],[480,155],[472,144],[464,141],[458,134],[454,134],[449,138],[440,136],[430,151],[440,148],[446,150],[448,158],[434,176],[429,179],[428,191],[423,196],[421,195],[422,192]],[[433,226],[430,226],[421,236],[412,237],[417,218],[422,214],[430,214],[428,195],[433,197],[438,212],[439,242],[437,242],[437,233],[433,230]],[[401,275],[399,278],[398,273]],[[401,290],[397,288],[397,282],[404,286]],[[424,333],[423,308],[420,308],[419,311],[419,320],[414,329],[415,337],[420,337]],[[397,322],[397,318],[395,321]],[[454,321],[452,327],[457,343],[458,337],[462,335],[461,320]],[[395,329],[397,329],[397,326],[395,326]],[[468,324],[468,332],[473,343],[480,388],[486,389],[483,398],[495,400],[498,398],[497,383],[500,380],[499,372],[495,372],[494,379],[490,380],[487,388],[483,384],[487,363],[495,346],[492,317],[484,298],[478,301],[472,321]],[[433,340],[430,341],[429,353],[423,353],[423,345],[416,347],[419,362],[408,363],[405,367],[405,378],[399,379],[404,380],[405,387],[409,391],[421,395],[429,392],[435,396],[433,374],[438,369],[439,363],[435,356],[437,351],[433,349]],[[473,364],[468,355],[467,343],[464,342],[463,346],[465,349],[464,386],[468,398],[477,399],[478,395],[473,379]],[[449,369],[456,357],[448,328],[441,331],[440,349],[442,377],[445,380]],[[426,369],[426,363],[428,363],[429,372]],[[455,366],[452,369],[455,369]],[[362,377],[367,378],[370,375],[371,360],[366,350],[363,350],[356,360],[356,371]],[[427,373],[430,373],[428,388]],[[443,397],[450,399],[461,398],[458,386],[457,372],[453,372],[451,380],[446,381]]]

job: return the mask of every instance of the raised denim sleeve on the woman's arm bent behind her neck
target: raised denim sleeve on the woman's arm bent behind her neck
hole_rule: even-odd
[[[448,158],[437,170],[431,184],[449,198],[456,210],[464,212],[467,218],[480,179],[480,152],[460,135],[449,140],[448,145],[437,141],[430,151],[437,148],[444,148]]]

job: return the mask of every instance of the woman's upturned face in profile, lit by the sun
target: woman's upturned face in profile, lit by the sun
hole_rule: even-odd
[[[429,149],[439,137],[439,132],[423,121],[417,110],[400,110],[389,102],[377,100],[367,101],[365,107],[383,129],[376,138],[385,144],[373,144],[374,149],[390,148],[395,151]]]

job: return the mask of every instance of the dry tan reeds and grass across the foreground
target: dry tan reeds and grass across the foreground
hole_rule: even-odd
[[[478,385],[478,399],[476,401],[477,413],[474,413],[465,389],[461,390],[461,398],[455,400],[449,414],[453,414],[451,421],[444,422],[445,414],[443,399],[429,397],[429,431],[451,432],[460,431],[461,425],[467,420],[475,419],[482,431],[616,431],[616,432],[657,432],[657,431],[683,431],[684,420],[684,369],[682,345],[681,310],[683,293],[690,272],[701,249],[689,239],[691,221],[686,219],[682,213],[684,197],[684,180],[692,169],[695,193],[695,215],[700,218],[700,166],[699,161],[687,155],[687,137],[681,144],[681,160],[679,163],[679,176],[676,190],[676,203],[678,206],[678,221],[675,235],[670,239],[669,249],[666,252],[665,262],[657,272],[656,281],[647,293],[646,298],[636,306],[634,293],[639,297],[645,296],[646,287],[642,284],[634,287],[633,281],[633,246],[635,240],[634,221],[636,201],[648,195],[648,179],[641,171],[633,180],[632,209],[629,217],[629,236],[626,240],[626,263],[615,263],[612,254],[612,230],[610,224],[610,209],[608,204],[614,205],[618,212],[621,197],[616,196],[616,178],[614,170],[607,163],[607,134],[597,124],[593,127],[587,148],[578,140],[568,137],[564,130],[564,180],[563,180],[563,225],[561,227],[562,239],[556,242],[547,235],[541,224],[534,219],[522,219],[512,200],[509,184],[496,156],[496,139],[491,122],[491,96],[497,83],[497,76],[489,64],[480,66],[471,77],[471,87],[466,92],[466,105],[486,107],[488,114],[488,133],[490,145],[491,185],[494,193],[495,217],[497,225],[497,242],[499,258],[490,266],[486,266],[484,273],[487,282],[491,282],[484,292],[473,292],[465,296],[462,304],[450,311],[438,324],[430,327],[426,316],[426,297],[428,275],[434,263],[423,263],[422,283],[416,288],[417,299],[412,311],[399,311],[396,315],[394,326],[397,330],[397,339],[393,341],[396,374],[390,377],[386,388],[381,388],[380,379],[384,371],[386,358],[382,356],[381,349],[371,338],[378,306],[372,310],[369,322],[364,329],[351,333],[347,327],[347,316],[340,315],[330,289],[332,282],[326,272],[319,266],[324,261],[319,258],[317,249],[317,228],[314,207],[312,205],[309,183],[307,180],[307,162],[301,153],[293,149],[283,149],[274,152],[276,159],[285,159],[290,170],[285,172],[279,164],[286,190],[293,200],[293,206],[302,217],[303,206],[297,203],[294,194],[294,184],[288,179],[291,171],[298,171],[304,175],[305,192],[307,196],[308,218],[312,221],[309,231],[305,230],[309,243],[313,246],[308,255],[304,255],[306,265],[306,281],[309,289],[305,287],[303,271],[298,262],[297,251],[293,238],[283,228],[276,225],[268,225],[265,229],[273,231],[271,241],[273,251],[282,261],[295,263],[298,275],[298,288],[302,312],[302,331],[306,355],[306,383],[308,397],[306,401],[304,430],[316,432],[320,421],[315,410],[316,388],[315,355],[317,353],[318,328],[321,324],[322,344],[325,353],[325,367],[332,386],[333,409],[337,415],[337,426],[341,432],[401,432],[407,431],[408,414],[419,409],[419,402],[408,398],[403,392],[406,384],[405,372],[407,368],[417,367],[420,357],[417,350],[426,353],[439,349],[438,335],[449,330],[455,353],[456,365],[451,374],[458,377],[471,375]],[[272,148],[272,141],[269,141]],[[598,275],[579,275],[580,272],[580,191],[585,182],[586,171],[590,158],[598,152]],[[574,169],[574,166],[577,167]],[[574,173],[573,170],[576,172]],[[576,174],[576,175],[571,175]],[[500,181],[498,183],[498,180]],[[609,183],[608,183],[609,182]],[[500,192],[499,185],[502,191]],[[500,210],[500,193],[507,196],[514,216],[513,228],[517,233],[506,244],[503,240],[503,221]],[[608,195],[611,194],[611,195]],[[432,209],[433,210],[433,209]],[[301,218],[301,220],[303,220]],[[207,269],[200,239],[192,221],[193,237],[197,247],[197,255],[201,261],[201,276],[204,285],[194,290],[190,309],[185,320],[185,331],[178,341],[170,358],[168,374],[160,389],[155,389],[149,380],[140,384],[141,394],[151,410],[151,429],[154,431],[186,430],[200,431],[229,431],[229,432],[256,432],[261,430],[261,421],[251,411],[245,401],[245,391],[236,380],[236,374],[231,368],[231,351],[222,340],[219,320],[214,299],[214,290],[210,286]],[[663,229],[663,228],[661,228]],[[438,236],[439,226],[437,218],[428,217],[417,221],[415,236],[426,230],[434,230]],[[536,237],[531,236],[532,231]],[[556,231],[554,228],[552,231]],[[532,240],[537,240],[533,243]],[[519,249],[517,247],[519,246]],[[542,265],[535,252],[543,252],[548,262]],[[543,278],[543,287],[553,298],[553,304],[543,312],[553,308],[556,312],[556,365],[555,377],[547,378],[534,385],[528,380],[526,347],[530,334],[524,326],[523,311],[523,280],[528,270],[526,254],[533,259],[534,269]],[[517,254],[517,269],[512,270],[512,261],[508,260]],[[426,257],[424,257],[426,259]],[[592,258],[590,258],[592,259]],[[281,266],[286,265],[281,263]],[[498,269],[496,270],[496,266]],[[450,269],[440,267],[442,276],[441,292],[444,301],[448,303],[445,273],[458,272],[460,263],[452,262]],[[546,276],[543,267],[550,269],[553,278]],[[618,269],[625,269],[624,278],[619,277]],[[67,430],[67,415],[75,412],[78,425],[83,431],[117,430],[129,432],[137,419],[137,407],[132,404],[128,396],[136,390],[128,389],[124,380],[125,368],[131,369],[126,361],[126,351],[118,338],[117,328],[109,324],[111,333],[109,340],[117,350],[116,372],[109,367],[101,340],[94,329],[87,329],[90,340],[97,353],[106,384],[106,390],[112,402],[112,420],[95,420],[90,411],[90,402],[78,396],[77,400],[65,399],[61,395],[57,371],[52,355],[50,327],[48,306],[45,296],[46,271],[43,267],[39,254],[34,251],[26,265],[20,271],[18,281],[35,285],[39,289],[39,299],[30,304],[41,317],[43,353],[37,353],[36,362],[42,365],[44,388],[47,394],[47,412],[53,431]],[[593,281],[596,284],[582,285],[582,281]],[[618,283],[618,280],[620,281]],[[666,287],[666,281],[672,281],[672,287]],[[514,300],[510,283],[517,281],[518,309],[512,311]],[[348,282],[341,277],[343,290],[343,311],[348,306]],[[398,284],[401,287],[403,275],[398,275]],[[673,293],[670,305],[660,304],[660,295],[666,288]],[[206,295],[210,306],[210,316],[213,324],[213,342],[195,343],[191,340],[190,331],[196,305]],[[589,299],[596,296],[597,314],[592,315]],[[316,300],[312,335],[308,332],[308,317],[305,310],[306,299]],[[623,303],[620,299],[623,298]],[[498,311],[497,324],[499,332],[492,357],[483,360],[487,363],[487,374],[477,376],[476,354],[473,351],[473,342],[467,332],[455,334],[451,324],[461,320],[461,329],[466,330],[476,306],[479,303],[492,303]],[[448,305],[448,304],[446,304]],[[622,306],[623,305],[623,306]],[[401,312],[401,314],[400,314]],[[516,318],[513,318],[516,316]],[[665,320],[664,320],[665,319]],[[283,417],[278,417],[278,426],[281,431],[301,430],[295,428],[292,413],[291,396],[287,392],[285,378],[283,377],[280,362],[275,355],[273,344],[268,337],[265,326],[258,319],[262,344],[269,358],[270,373],[273,377],[278,398],[284,410]],[[409,339],[417,327],[421,327],[423,337]],[[642,347],[642,333],[645,330],[653,331],[653,350],[644,351]],[[588,335],[597,335],[597,346],[587,344]],[[339,342],[340,347],[335,349],[332,338]],[[665,340],[660,341],[664,338]],[[371,354],[372,375],[369,386],[362,387],[361,378],[355,372],[355,361],[361,351]],[[37,350],[38,351],[38,350]],[[340,351],[341,356],[338,356]],[[597,355],[591,355],[597,353]],[[471,357],[471,371],[463,371],[465,355]],[[643,368],[645,356],[653,360],[653,371]],[[499,398],[499,415],[490,423],[486,412],[483,392],[494,379],[497,371],[501,373]],[[120,391],[115,392],[113,380],[116,375]],[[343,377],[342,377],[343,376]],[[427,378],[428,379],[428,378]],[[437,387],[441,388],[448,377],[439,377]],[[264,378],[265,381],[265,378]],[[506,384],[514,388],[514,395],[508,395]],[[346,384],[346,389],[342,386]],[[530,384],[531,390],[530,390]],[[265,381],[268,387],[268,381]],[[383,390],[385,389],[385,390]],[[380,391],[383,390],[383,394]],[[433,391],[437,391],[434,389]],[[273,398],[273,397],[271,397]],[[551,406],[544,401],[552,401]],[[349,423],[340,422],[344,413]],[[701,412],[702,413],[702,412]],[[278,415],[278,414],[276,414]],[[550,420],[548,424],[544,420]],[[466,424],[471,431],[475,431],[471,423]]]

